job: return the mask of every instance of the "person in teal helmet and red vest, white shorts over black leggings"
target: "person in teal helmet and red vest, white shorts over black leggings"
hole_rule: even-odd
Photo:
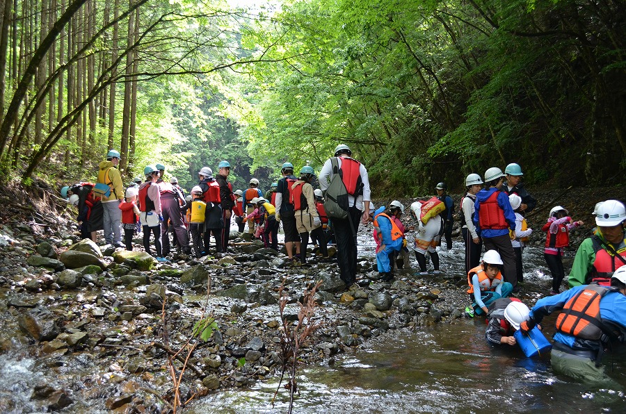
[[[157,250],[157,261],[168,263],[163,257],[161,249],[161,191],[157,180],[159,180],[159,170],[154,165],[147,165],[143,169],[145,182],[139,185],[139,220],[143,226],[143,248],[147,254],[150,253],[150,233],[154,235],[154,249]]]

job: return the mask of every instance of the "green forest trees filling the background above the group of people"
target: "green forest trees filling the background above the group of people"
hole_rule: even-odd
[[[520,163],[530,183],[623,183],[621,1],[0,1],[2,179],[236,186],[319,172],[339,143],[376,194]],[[241,2],[239,2],[241,5]]]

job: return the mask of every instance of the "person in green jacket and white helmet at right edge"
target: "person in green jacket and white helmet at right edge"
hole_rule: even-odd
[[[626,265],[625,221],[626,208],[620,201],[607,200],[597,207],[597,230],[576,251],[568,278],[570,288],[592,281],[609,285],[611,272]]]

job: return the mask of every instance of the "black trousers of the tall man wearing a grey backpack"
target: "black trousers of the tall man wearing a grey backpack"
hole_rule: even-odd
[[[351,207],[348,210],[348,218],[344,220],[333,219],[332,226],[337,240],[337,264],[339,265],[339,277],[346,285],[351,285],[356,280],[357,241],[356,234],[361,220],[361,210]]]

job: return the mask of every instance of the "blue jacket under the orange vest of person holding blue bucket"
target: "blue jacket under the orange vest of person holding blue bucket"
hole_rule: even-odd
[[[549,315],[554,311],[560,311],[565,304],[576,295],[576,293],[586,288],[586,285],[575,286],[570,290],[559,293],[559,295],[547,296],[539,299],[535,306],[531,309],[530,316],[539,323],[545,315]],[[602,321],[611,322],[611,330],[616,329],[621,334],[626,333],[626,296],[620,292],[607,292],[600,299],[600,317]],[[600,344],[597,341],[583,340],[575,336],[556,331],[554,340],[561,342],[568,347],[575,349],[589,349],[597,351]]]

